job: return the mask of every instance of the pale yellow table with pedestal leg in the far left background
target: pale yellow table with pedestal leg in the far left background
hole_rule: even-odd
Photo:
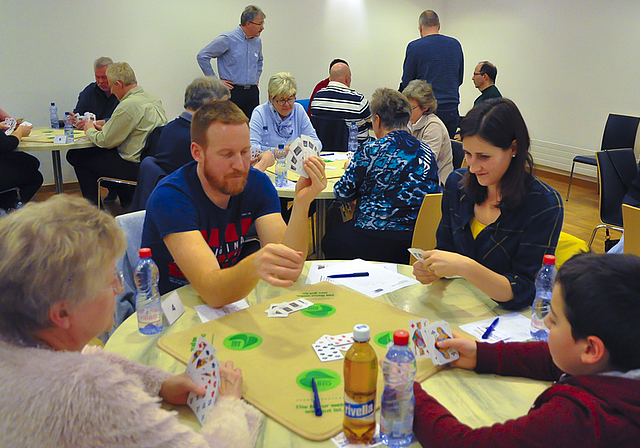
[[[94,146],[85,136],[84,131],[74,131],[73,143],[54,143],[54,135],[63,135],[63,129],[51,129],[47,127],[33,128],[31,133],[23,137],[18,145],[21,151],[51,151],[51,162],[53,164],[53,180],[56,185],[56,193],[62,193],[62,163],[60,161],[60,150],[81,149]]]

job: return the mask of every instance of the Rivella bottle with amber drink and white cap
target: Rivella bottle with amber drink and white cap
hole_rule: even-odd
[[[349,443],[370,443],[376,432],[378,358],[367,325],[353,328],[354,343],[344,358],[344,435]]]

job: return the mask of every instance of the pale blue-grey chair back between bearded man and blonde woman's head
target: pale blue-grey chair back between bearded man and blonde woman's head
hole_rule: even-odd
[[[144,210],[138,212],[127,213],[125,215],[116,216],[116,222],[127,237],[127,251],[118,260],[117,267],[122,271],[124,277],[124,293],[116,296],[116,310],[114,316],[114,328],[109,335],[136,311],[136,284],[134,281],[134,270],[138,265],[140,258],[138,250],[142,243],[142,228],[144,226]],[[108,336],[106,338],[108,338]],[[103,339],[104,341],[105,339]]]

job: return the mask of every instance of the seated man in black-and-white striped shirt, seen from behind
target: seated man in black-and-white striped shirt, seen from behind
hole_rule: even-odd
[[[363,94],[351,88],[351,69],[348,64],[338,62],[331,67],[329,84],[316,93],[309,110],[312,117],[355,121],[358,125],[359,145],[369,140],[371,128],[369,101]],[[313,119],[311,121],[313,122]]]

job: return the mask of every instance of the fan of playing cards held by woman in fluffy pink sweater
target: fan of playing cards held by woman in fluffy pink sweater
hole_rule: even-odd
[[[191,354],[186,372],[189,378],[205,388],[204,397],[191,392],[187,398],[187,405],[196,414],[200,424],[204,424],[209,408],[218,398],[220,364],[216,357],[216,349],[202,337],[196,342],[196,348]]]

